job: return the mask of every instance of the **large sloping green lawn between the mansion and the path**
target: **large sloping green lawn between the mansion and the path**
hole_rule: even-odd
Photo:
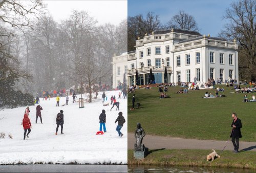
[[[187,94],[176,94],[180,87],[169,87],[170,98],[159,99],[158,88],[137,89],[128,95],[128,131],[133,133],[140,122],[146,134],[190,139],[227,140],[231,132],[231,114],[236,112],[241,119],[241,141],[256,141],[256,102],[243,102],[243,93],[232,87],[223,87],[223,98],[202,98],[205,92],[196,90]],[[244,87],[244,85],[242,85]],[[141,103],[140,109],[131,111],[132,96]],[[256,93],[254,93],[256,94]],[[251,99],[251,93],[247,94]],[[136,106],[136,105],[135,105]]]

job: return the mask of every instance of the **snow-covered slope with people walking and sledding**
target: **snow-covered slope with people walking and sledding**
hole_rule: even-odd
[[[30,106],[29,118],[32,123],[31,133],[28,140],[23,139],[24,129],[20,123],[23,120],[26,107],[0,111],[0,133],[5,133],[5,139],[0,139],[0,164],[27,163],[71,163],[94,164],[94,163],[117,163],[127,164],[127,99],[118,99],[119,91],[105,92],[110,103],[111,95],[116,96],[120,102],[120,111],[126,120],[121,132],[122,138],[116,132],[115,120],[118,117],[116,106],[112,111],[111,104],[103,106],[102,97],[99,93],[98,99],[93,103],[84,103],[84,108],[79,109],[79,103],[73,103],[69,96],[69,105],[66,97],[61,97],[59,107],[56,107],[56,98],[42,100],[42,122],[36,119],[36,105]],[[80,95],[77,95],[76,100]],[[83,96],[84,97],[84,96]],[[99,115],[104,109],[106,111],[106,133],[96,135],[99,131]],[[63,133],[58,135],[56,130],[56,115],[63,110],[64,124]],[[103,128],[102,128],[103,131]],[[12,134],[13,139],[8,138]]]

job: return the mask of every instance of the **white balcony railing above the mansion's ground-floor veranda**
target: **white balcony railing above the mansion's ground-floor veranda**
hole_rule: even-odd
[[[150,73],[150,69],[152,69],[152,72],[164,72],[166,66],[150,66],[150,67],[142,67],[138,69],[131,69],[128,70],[128,74],[135,74],[136,70],[139,73]],[[167,72],[172,73],[172,67],[166,67]]]

